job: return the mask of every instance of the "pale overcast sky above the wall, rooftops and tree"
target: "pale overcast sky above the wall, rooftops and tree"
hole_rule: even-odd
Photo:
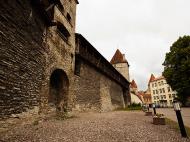
[[[130,78],[145,90],[172,43],[190,35],[190,0],[79,0],[76,23],[108,61],[117,48],[124,53]]]

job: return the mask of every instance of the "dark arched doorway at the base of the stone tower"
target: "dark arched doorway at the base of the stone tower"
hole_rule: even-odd
[[[50,90],[48,103],[58,111],[66,111],[68,100],[69,80],[61,69],[53,71],[50,77]]]

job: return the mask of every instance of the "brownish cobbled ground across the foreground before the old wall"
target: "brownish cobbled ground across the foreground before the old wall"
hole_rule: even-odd
[[[167,125],[153,125],[143,112],[81,113],[50,119],[6,133],[5,142],[190,142]]]

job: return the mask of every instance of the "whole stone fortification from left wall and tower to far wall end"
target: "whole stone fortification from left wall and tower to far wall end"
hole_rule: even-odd
[[[74,74],[77,3],[0,1],[0,118],[31,110],[107,111],[124,106],[129,83],[106,70],[108,63],[100,60],[103,66],[95,67],[81,60],[80,75]]]

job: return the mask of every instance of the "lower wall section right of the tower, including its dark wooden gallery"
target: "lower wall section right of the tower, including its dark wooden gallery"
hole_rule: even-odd
[[[76,109],[109,111],[128,104],[129,82],[80,34],[76,34]]]

